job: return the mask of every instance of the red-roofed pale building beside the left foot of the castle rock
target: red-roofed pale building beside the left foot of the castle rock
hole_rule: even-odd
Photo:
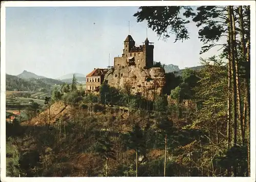
[[[99,92],[99,87],[104,81],[105,73],[107,69],[94,69],[91,73],[86,76],[86,90],[91,92]]]

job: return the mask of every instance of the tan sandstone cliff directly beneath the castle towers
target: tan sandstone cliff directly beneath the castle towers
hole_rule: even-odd
[[[142,69],[141,67],[118,66],[109,70],[104,80],[113,87],[122,89],[124,85],[131,85],[131,93],[152,99],[154,93],[160,95],[165,85],[165,71],[160,67]]]

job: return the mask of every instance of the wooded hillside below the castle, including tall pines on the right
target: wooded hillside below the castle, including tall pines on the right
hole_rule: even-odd
[[[140,7],[134,16],[175,41],[194,21],[201,53],[220,54],[166,74],[153,99],[131,94],[129,82],[86,94],[74,76],[41,113],[28,108],[31,120],[6,123],[7,176],[250,176],[250,7]]]

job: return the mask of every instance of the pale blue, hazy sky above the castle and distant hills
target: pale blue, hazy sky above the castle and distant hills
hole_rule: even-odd
[[[138,7],[7,7],[6,73],[24,70],[48,78],[70,73],[87,75],[95,67],[114,64],[121,56],[123,41],[130,34],[136,45],[147,37],[154,42],[154,61],[180,69],[200,65],[200,57],[218,54],[217,48],[200,55],[202,43],[194,22],[187,24],[190,39],[166,41],[137,22]]]

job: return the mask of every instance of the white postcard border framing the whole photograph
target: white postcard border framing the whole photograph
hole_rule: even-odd
[[[255,181],[255,2],[254,1],[94,1],[94,2],[2,2],[1,3],[1,181],[45,181],[44,177],[27,178],[27,177],[6,177],[6,123],[5,123],[5,111],[6,111],[6,100],[5,100],[5,83],[6,83],[6,62],[5,62],[5,10],[6,7],[100,7],[100,6],[216,6],[216,5],[250,5],[251,6],[251,177],[134,177],[132,180],[184,180],[184,181]],[[254,111],[253,111],[254,110]],[[51,181],[131,181],[131,177],[48,177],[47,180]]]

